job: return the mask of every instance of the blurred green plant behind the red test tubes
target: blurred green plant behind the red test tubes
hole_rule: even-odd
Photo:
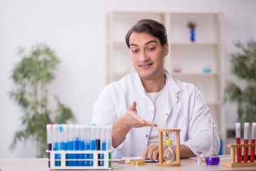
[[[237,103],[238,121],[251,123],[256,121],[256,42],[244,46],[237,41],[235,46],[240,51],[231,54],[231,73],[245,81],[245,86],[228,83],[225,101]]]

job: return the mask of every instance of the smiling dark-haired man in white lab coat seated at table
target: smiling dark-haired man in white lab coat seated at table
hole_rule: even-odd
[[[207,155],[213,118],[193,84],[182,83],[165,71],[169,52],[165,26],[140,20],[128,31],[126,43],[136,73],[106,86],[93,110],[92,123],[113,123],[114,157],[157,159],[156,128],[181,130],[181,158],[194,157],[198,151]],[[219,150],[216,126],[214,137]]]

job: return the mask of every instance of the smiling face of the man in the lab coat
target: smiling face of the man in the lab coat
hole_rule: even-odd
[[[140,78],[154,79],[163,74],[168,43],[162,48],[158,38],[135,32],[131,33],[129,43],[133,67]]]

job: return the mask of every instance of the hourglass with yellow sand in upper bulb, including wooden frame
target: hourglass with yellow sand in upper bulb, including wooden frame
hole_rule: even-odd
[[[159,132],[159,162],[158,166],[180,166],[180,130],[177,129],[158,129]],[[176,162],[173,162],[175,155],[171,149],[173,144],[173,134],[176,133]],[[163,137],[164,135],[164,137]],[[163,152],[163,143],[166,149]]]

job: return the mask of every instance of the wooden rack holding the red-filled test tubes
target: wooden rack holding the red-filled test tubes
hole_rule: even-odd
[[[256,162],[235,162],[235,148],[236,147],[255,147],[256,144],[227,144],[230,147],[230,162],[222,162],[222,166],[227,167],[246,167],[246,166],[256,166]]]

